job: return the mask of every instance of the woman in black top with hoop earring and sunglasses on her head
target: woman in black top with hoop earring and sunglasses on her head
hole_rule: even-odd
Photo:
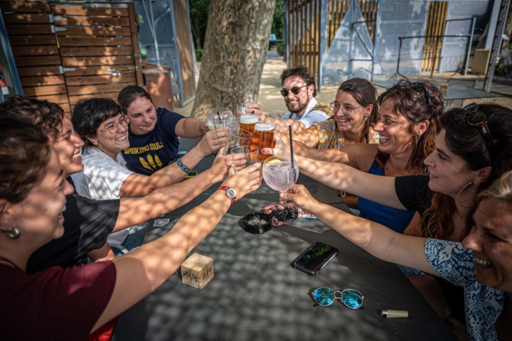
[[[422,237],[460,242],[473,224],[476,195],[512,170],[512,111],[498,104],[471,104],[466,109],[451,109],[441,117],[435,151],[423,161],[429,175],[379,177],[343,163],[302,156],[296,160],[301,173],[326,185],[419,212]],[[463,321],[461,294],[445,281],[412,276],[420,273],[417,269],[422,270],[402,271],[442,318],[452,324]]]

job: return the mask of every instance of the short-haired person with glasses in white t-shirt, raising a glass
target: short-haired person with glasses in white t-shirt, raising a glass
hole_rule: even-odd
[[[185,161],[178,158],[176,164],[161,168],[150,176],[130,171],[121,155],[123,150],[130,147],[128,118],[112,99],[83,99],[75,105],[71,121],[78,136],[85,141],[81,155],[84,170],[71,175],[71,178],[77,193],[90,199],[143,197],[156,189],[183,180],[189,171],[186,167],[192,168],[201,161],[201,158],[188,158],[185,166]],[[212,141],[225,144],[224,133],[224,128],[211,131]],[[159,147],[159,144],[154,144],[148,149]],[[220,154],[215,163],[223,163]],[[158,164],[159,160],[154,159],[154,163]],[[142,244],[145,232],[144,225],[139,225],[111,234],[107,242],[111,246],[121,245],[130,251]],[[119,251],[114,253],[119,254]]]

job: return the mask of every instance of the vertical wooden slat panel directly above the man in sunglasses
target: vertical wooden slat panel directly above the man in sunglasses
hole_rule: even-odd
[[[320,1],[290,0],[289,66],[306,65],[319,82]]]

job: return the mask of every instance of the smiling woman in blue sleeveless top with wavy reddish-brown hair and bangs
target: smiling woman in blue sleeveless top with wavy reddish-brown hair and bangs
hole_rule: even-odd
[[[341,111],[334,102],[335,114]],[[378,121],[373,126],[379,144],[348,144],[319,150],[294,142],[294,153],[322,161],[346,163],[361,171],[382,176],[427,173],[423,160],[434,150],[439,119],[444,113],[442,95],[430,82],[400,80],[378,97]],[[348,112],[338,116],[350,115]],[[279,148],[277,146],[277,148]],[[359,198],[360,216],[396,232],[420,234],[420,215]]]

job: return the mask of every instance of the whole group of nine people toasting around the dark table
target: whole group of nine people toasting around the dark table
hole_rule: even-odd
[[[370,82],[351,79],[327,105],[316,102],[306,67],[285,70],[281,81],[289,112],[270,118],[250,104],[240,129],[266,158],[289,155],[291,126],[300,173],[333,188],[359,217],[302,185],[280,193],[281,202],[398,264],[459,339],[510,340],[512,111],[471,104],[444,112],[429,82],[400,80],[377,97]],[[47,101],[0,104],[3,340],[111,332],[235,200],[259,188],[261,164],[226,155],[232,134],[155,108],[137,86],[117,103],[84,99],[71,119]],[[179,137],[201,139],[178,157]],[[207,171],[183,180],[215,152]],[[215,183],[208,200],[142,245],[142,223]]]

